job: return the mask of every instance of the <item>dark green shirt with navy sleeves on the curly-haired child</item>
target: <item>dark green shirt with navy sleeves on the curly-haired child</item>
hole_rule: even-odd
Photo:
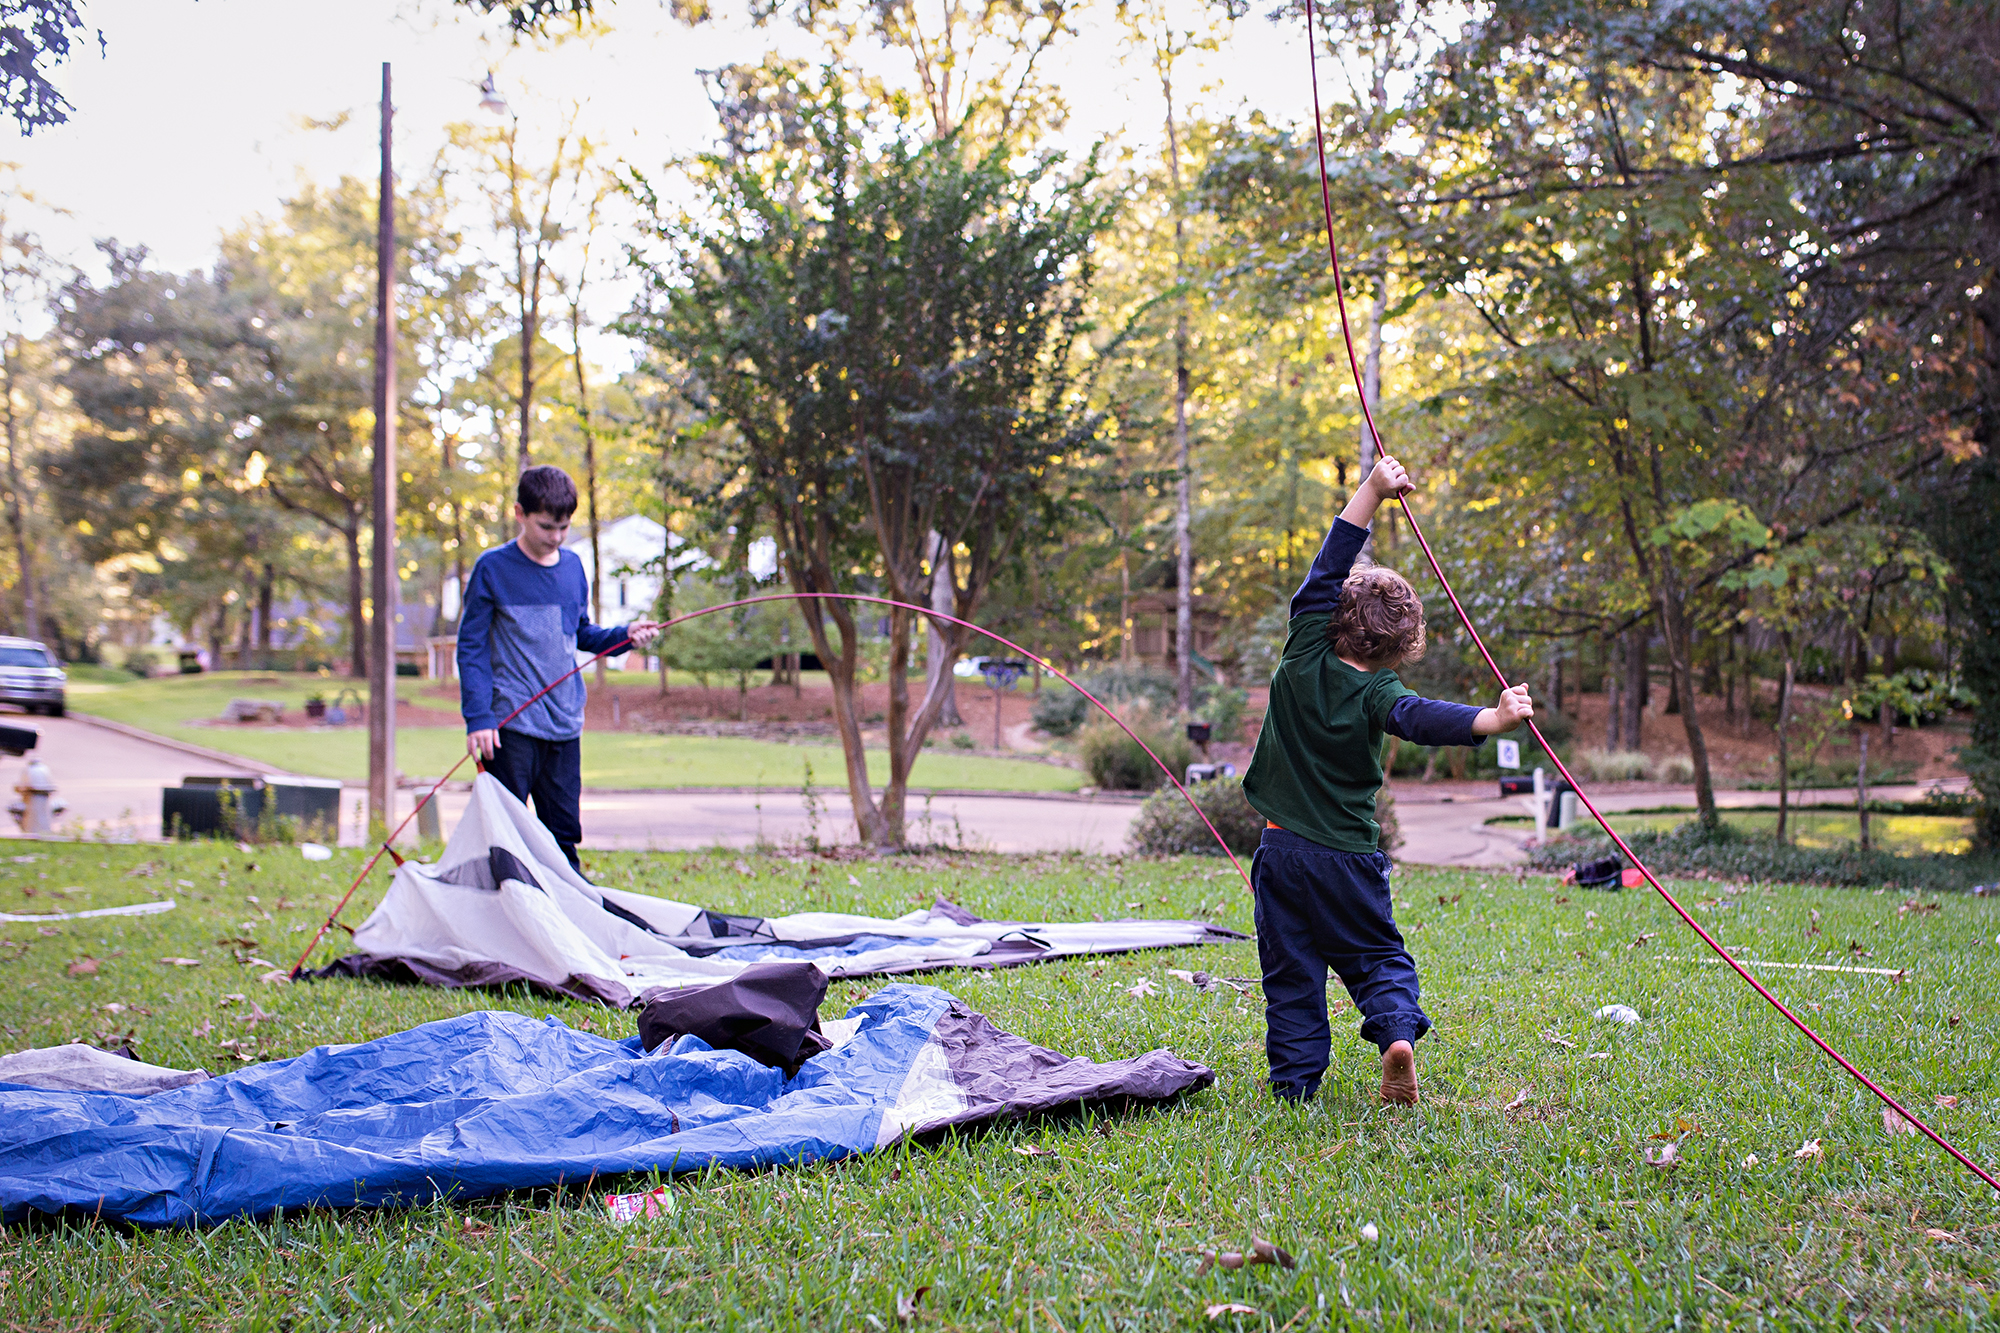
[[[1422,699],[1392,671],[1356,671],[1326,636],[1368,528],[1336,518],[1306,580],[1292,594],[1284,654],[1244,797],[1280,829],[1350,853],[1376,851],[1374,799],[1382,737],[1416,745],[1480,745],[1470,705]]]

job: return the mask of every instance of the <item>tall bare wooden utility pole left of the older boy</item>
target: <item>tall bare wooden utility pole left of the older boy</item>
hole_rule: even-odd
[[[382,62],[382,192],[376,206],[374,618],[368,626],[368,819],[396,819],[396,172]],[[360,626],[356,626],[360,630]]]

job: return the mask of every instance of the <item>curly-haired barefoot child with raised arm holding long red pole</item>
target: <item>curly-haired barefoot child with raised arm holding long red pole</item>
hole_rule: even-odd
[[[1382,458],[1354,492],[1292,596],[1284,656],[1244,795],[1264,817],[1250,863],[1256,949],[1264,967],[1264,1053],[1280,1099],[1320,1089],[1330,1059],[1326,969],[1362,1013],[1362,1039],[1382,1051],[1382,1101],[1416,1105],[1414,1043],[1430,1031],[1416,963],[1388,901],[1388,857],[1376,847],[1382,737],[1416,745],[1480,745],[1534,717],[1528,687],[1492,709],[1420,699],[1394,666],[1424,654],[1424,604],[1400,574],[1354,570],[1382,500],[1410,488]]]

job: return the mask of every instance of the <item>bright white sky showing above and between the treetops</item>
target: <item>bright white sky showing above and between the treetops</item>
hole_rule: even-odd
[[[1192,16],[1198,0],[1170,0]],[[740,10],[736,4],[718,10]],[[698,70],[758,60],[790,30],[712,22],[684,28],[654,0],[602,4],[610,36],[554,50],[510,48],[504,26],[446,0],[86,0],[90,42],[62,74],[76,106],[68,126],[20,138],[0,124],[0,160],[70,218],[44,228],[50,246],[90,264],[92,242],[144,244],[164,268],[206,266],[216,238],[272,212],[300,178],[374,174],[380,62],[394,64],[396,160],[408,174],[438,150],[452,120],[478,120],[488,68],[526,130],[582,102],[582,122],[612,156],[656,170],[700,150],[714,118]],[[1072,104],[1070,144],[1098,134],[1152,152],[1162,102],[1144,56],[1126,56],[1112,8],[1048,66]],[[1260,106],[1302,118],[1306,52],[1264,18],[1240,22],[1224,50],[1190,60],[1182,98],[1228,110]],[[1332,88],[1330,88],[1332,92]],[[352,112],[346,128],[308,128]]]

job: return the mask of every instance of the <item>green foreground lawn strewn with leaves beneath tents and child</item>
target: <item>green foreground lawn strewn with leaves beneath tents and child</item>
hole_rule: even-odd
[[[274,1059],[478,1007],[632,1031],[630,1015],[524,993],[264,987],[260,967],[216,943],[260,941],[256,953],[290,963],[358,853],[308,865],[282,847],[18,847],[36,859],[0,859],[6,911],[154,895],[182,907],[50,935],[0,923],[16,941],[0,949],[0,1023],[14,1047],[130,1033],[146,1059],[226,1069],[236,1049],[222,1041]],[[132,877],[138,865],[152,873]],[[724,911],[894,915],[944,893],[986,917],[1182,917],[1222,903],[1224,925],[1248,927],[1242,889],[1206,859],[808,865],[592,853],[590,867],[606,883]],[[62,887],[76,889],[52,899]],[[1750,957],[1838,963],[1852,941],[1864,965],[1908,969],[1902,983],[1784,971],[1772,985],[1974,1159],[2000,1159],[2000,901],[1902,911],[1898,897],[1854,889],[1682,887],[1704,923]],[[916,981],[952,989],[1030,1041],[1094,1059],[1170,1045],[1212,1065],[1220,1083],[1098,1121],[684,1177],[678,1211],[636,1227],[608,1225],[602,1203],[580,1191],[200,1235],[16,1227],[0,1235],[0,1309],[16,1327],[894,1329],[898,1295],[928,1287],[910,1327],[1970,1327],[2000,1317],[1996,1199],[1928,1143],[1886,1137],[1878,1103],[1742,983],[1716,965],[1672,961],[1696,945],[1658,899],[1416,867],[1396,873],[1396,891],[1438,1025],[1420,1047],[1426,1101],[1414,1111],[1374,1105],[1374,1051],[1346,1007],[1318,1103],[1272,1105],[1260,1089],[1256,997],[1200,995],[1166,975],[1254,975],[1250,943],[938,973]],[[1818,933],[1808,933],[1814,909]],[[96,975],[66,975],[86,955]],[[170,955],[202,965],[156,961]],[[1158,993],[1130,995],[1138,979]],[[828,1015],[864,989],[836,983]],[[276,1019],[248,1027],[238,995]],[[1644,1021],[1592,1021],[1610,1001]],[[1956,1109],[1934,1111],[1938,1095],[1958,1097]],[[1680,1141],[1674,1169],[1646,1165],[1644,1149],[1662,1137]],[[1806,1141],[1820,1155],[1796,1159]],[[1026,1143],[1054,1157],[1012,1151]],[[596,1193],[642,1185],[632,1177]],[[1362,1239],[1366,1223],[1378,1241]],[[1252,1235],[1298,1255],[1298,1267],[1198,1271],[1202,1249],[1246,1249]],[[1222,1303],[1258,1313],[1210,1321],[1206,1307]]]

